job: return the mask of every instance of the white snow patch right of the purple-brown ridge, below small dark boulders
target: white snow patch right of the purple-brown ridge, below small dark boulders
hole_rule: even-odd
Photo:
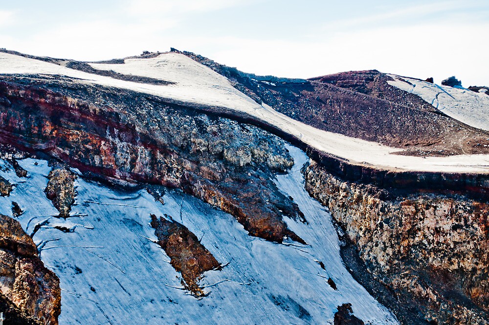
[[[446,115],[482,130],[489,130],[489,96],[465,88],[439,86],[426,81],[388,74],[391,86],[414,93]]]

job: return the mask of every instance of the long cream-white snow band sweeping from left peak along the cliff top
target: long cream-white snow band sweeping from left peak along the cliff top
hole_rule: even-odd
[[[310,125],[280,114],[266,104],[259,105],[232,87],[217,72],[179,53],[163,53],[155,58],[127,59],[125,64],[91,64],[99,70],[146,76],[174,81],[174,85],[148,85],[68,69],[52,63],[18,55],[0,53],[0,73],[66,75],[103,86],[148,93],[180,101],[220,106],[241,111],[293,135],[323,152],[341,157],[350,163],[363,163],[390,170],[489,172],[489,155],[450,157],[412,157],[392,155],[402,151],[376,142],[346,137],[318,130]],[[481,94],[482,96],[483,94]]]

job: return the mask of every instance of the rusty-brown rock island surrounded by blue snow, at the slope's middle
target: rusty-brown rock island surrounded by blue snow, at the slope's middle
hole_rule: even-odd
[[[155,228],[158,244],[171,258],[175,270],[181,273],[182,285],[196,297],[204,296],[205,293],[197,282],[202,273],[217,269],[220,264],[194,233],[170,216],[166,217],[170,220],[151,215],[151,227]]]

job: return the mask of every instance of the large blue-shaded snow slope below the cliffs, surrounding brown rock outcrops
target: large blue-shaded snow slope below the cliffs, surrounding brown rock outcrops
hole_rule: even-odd
[[[25,209],[18,220],[27,233],[49,222],[33,239],[61,280],[60,324],[333,324],[336,306],[346,302],[366,324],[398,324],[345,269],[331,215],[303,187],[300,167],[307,157],[289,150],[296,164],[276,182],[305,213],[309,225],[287,221],[310,246],[251,237],[231,215],[180,191],[167,190],[161,205],[144,190],[116,192],[83,179],[76,181],[72,217],[57,219],[43,191],[50,167],[33,159],[19,162],[27,179],[11,167],[0,172],[17,184],[10,197],[0,197],[0,213],[11,215],[11,201],[17,202]],[[208,297],[197,300],[178,289],[179,274],[151,241],[150,213],[173,216],[202,236],[218,261],[229,262],[205,274],[201,284],[211,291]],[[54,226],[75,228],[61,232]]]

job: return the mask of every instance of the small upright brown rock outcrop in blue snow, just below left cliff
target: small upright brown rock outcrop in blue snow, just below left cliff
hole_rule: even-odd
[[[75,176],[67,168],[53,168],[47,176],[46,197],[53,202],[61,218],[67,218],[75,203]]]

